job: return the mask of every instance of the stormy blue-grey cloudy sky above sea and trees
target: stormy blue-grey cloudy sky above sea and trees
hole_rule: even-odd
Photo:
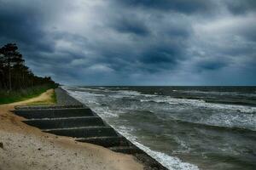
[[[255,0],[0,0],[0,45],[77,85],[256,85]]]

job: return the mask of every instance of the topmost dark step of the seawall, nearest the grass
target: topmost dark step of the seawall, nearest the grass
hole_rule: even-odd
[[[89,108],[43,109],[43,110],[15,110],[16,115],[27,119],[95,116]]]

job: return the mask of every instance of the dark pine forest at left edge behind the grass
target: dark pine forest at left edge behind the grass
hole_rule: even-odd
[[[54,85],[51,77],[37,77],[25,65],[22,54],[15,43],[8,43],[0,48],[0,89],[19,90],[38,85]]]

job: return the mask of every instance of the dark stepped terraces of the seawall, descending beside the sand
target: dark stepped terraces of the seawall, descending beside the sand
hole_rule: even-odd
[[[102,121],[100,116],[87,107],[26,107],[16,108],[15,114],[23,116],[23,121],[45,133],[75,138],[79,142],[102,145],[122,153],[139,153],[140,150],[113,127]]]

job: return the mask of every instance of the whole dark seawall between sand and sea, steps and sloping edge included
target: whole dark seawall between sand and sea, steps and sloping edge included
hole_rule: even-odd
[[[65,90],[56,88],[55,94],[57,105],[20,106],[15,108],[15,114],[25,117],[26,124],[38,127],[45,133],[69,136],[79,142],[97,144],[116,152],[131,154],[143,163],[145,169],[167,169]]]

